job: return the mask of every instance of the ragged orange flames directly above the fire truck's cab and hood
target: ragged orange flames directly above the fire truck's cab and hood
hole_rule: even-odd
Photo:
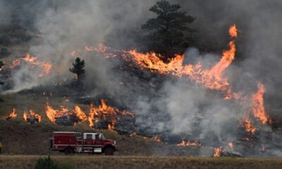
[[[90,105],[88,121],[90,123],[90,127],[95,127],[95,123],[104,120],[108,123],[108,130],[114,130],[116,121],[119,120],[121,115],[130,115],[134,118],[133,113],[129,111],[119,111],[118,108],[106,105],[106,100],[102,99],[100,106],[94,106],[94,104]]]

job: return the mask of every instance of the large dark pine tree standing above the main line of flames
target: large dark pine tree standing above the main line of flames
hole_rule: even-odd
[[[188,33],[191,32],[189,23],[195,18],[178,11],[178,4],[170,4],[168,1],[158,1],[149,8],[157,14],[157,18],[147,20],[142,29],[149,30],[147,39],[149,51],[165,56],[164,61],[172,58],[174,54],[181,54],[188,47]]]

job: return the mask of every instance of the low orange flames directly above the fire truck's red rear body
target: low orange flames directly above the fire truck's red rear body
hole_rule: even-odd
[[[61,106],[60,110],[54,110],[47,103],[45,106],[45,112],[47,114],[47,118],[51,121],[51,123],[56,124],[57,118],[63,118],[63,116],[75,116],[78,118],[78,122],[83,122],[87,120],[87,115],[81,110],[79,106],[75,106],[73,110],[69,110],[65,106]]]

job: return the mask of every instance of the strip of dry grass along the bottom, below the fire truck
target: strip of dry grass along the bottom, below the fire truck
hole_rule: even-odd
[[[0,156],[0,168],[33,168],[39,156]],[[272,168],[281,158],[195,158],[163,156],[51,156],[73,168]]]

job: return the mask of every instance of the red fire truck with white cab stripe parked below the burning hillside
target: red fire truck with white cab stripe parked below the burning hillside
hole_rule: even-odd
[[[53,132],[51,150],[65,154],[91,153],[114,155],[116,141],[105,139],[102,133]]]

